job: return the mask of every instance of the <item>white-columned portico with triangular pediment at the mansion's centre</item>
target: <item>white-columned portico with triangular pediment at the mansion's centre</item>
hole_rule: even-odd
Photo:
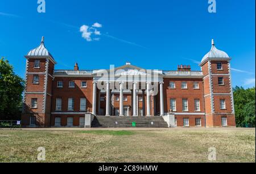
[[[111,72],[113,74],[111,74]],[[115,101],[112,97],[113,95],[118,96],[119,100],[119,106],[114,107],[119,113],[116,116],[130,115],[133,117],[150,117],[154,115],[164,115],[163,77],[157,71],[150,70],[150,72],[148,72],[146,69],[126,64],[123,67],[110,69],[106,72],[98,71],[95,73],[93,80],[93,115],[100,114],[99,112],[96,113],[96,103],[99,103],[96,97],[97,89],[98,93],[100,93],[98,95],[105,96],[106,116],[113,115],[113,112],[110,111]],[[126,107],[124,107],[124,94],[130,98],[129,101],[126,101]],[[157,102],[160,103],[160,113],[155,113],[154,109],[152,109],[156,107],[154,106],[156,102],[152,101],[158,98],[153,96],[160,96],[160,100]],[[139,104],[139,102],[142,102],[142,104]],[[124,114],[125,112],[126,114]]]

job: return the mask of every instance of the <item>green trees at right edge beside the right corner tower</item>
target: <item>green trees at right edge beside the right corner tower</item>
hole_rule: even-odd
[[[238,127],[255,127],[255,87],[234,89],[234,107]]]

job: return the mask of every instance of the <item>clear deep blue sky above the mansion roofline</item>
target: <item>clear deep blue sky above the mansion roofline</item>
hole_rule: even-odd
[[[45,1],[46,13],[38,13],[37,0],[0,1],[0,56],[22,77],[24,55],[42,36],[55,69],[73,69],[75,62],[80,69],[108,69],[130,61],[146,69],[190,64],[200,70],[196,63],[213,38],[232,57],[233,86],[255,86],[254,0],[216,0],[217,13],[208,12],[208,0]]]

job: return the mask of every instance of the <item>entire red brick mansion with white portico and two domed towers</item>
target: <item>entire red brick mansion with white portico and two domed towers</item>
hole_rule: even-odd
[[[73,70],[56,70],[44,38],[25,57],[22,125],[26,127],[84,127],[88,114],[92,127],[93,119],[103,117],[117,126],[121,121],[115,118],[123,118],[122,124],[137,118],[151,119],[154,125],[153,118],[161,118],[169,127],[236,126],[231,59],[213,40],[201,60],[201,71],[191,71],[189,65],[162,71],[130,63],[105,70],[80,70],[76,63]]]

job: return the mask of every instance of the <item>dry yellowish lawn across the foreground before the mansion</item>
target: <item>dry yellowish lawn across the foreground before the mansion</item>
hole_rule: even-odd
[[[255,129],[0,130],[0,162],[254,162]],[[208,148],[216,148],[216,161]]]

